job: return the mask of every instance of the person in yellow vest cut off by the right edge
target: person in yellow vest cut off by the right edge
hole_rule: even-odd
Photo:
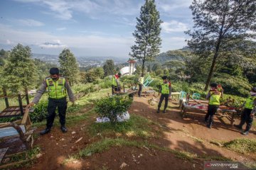
[[[244,107],[242,111],[241,120],[239,125],[234,125],[236,128],[242,130],[242,125],[245,125],[245,131],[242,131],[242,135],[248,135],[250,128],[252,127],[253,117],[256,113],[256,87],[253,87],[250,91],[250,96],[239,108]]]

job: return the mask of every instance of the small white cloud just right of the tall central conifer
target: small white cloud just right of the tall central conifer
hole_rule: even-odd
[[[174,20],[170,22],[161,23],[161,28],[164,31],[164,33],[183,32],[185,30],[188,30],[186,23],[181,23]]]

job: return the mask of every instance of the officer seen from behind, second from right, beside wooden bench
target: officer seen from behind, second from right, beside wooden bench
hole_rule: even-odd
[[[210,91],[208,92],[206,99],[209,100],[208,104],[208,111],[205,117],[205,123],[207,124],[208,128],[211,128],[213,125],[213,115],[217,113],[218,108],[220,106],[220,96],[221,92],[218,91],[218,84],[211,83],[210,84]]]

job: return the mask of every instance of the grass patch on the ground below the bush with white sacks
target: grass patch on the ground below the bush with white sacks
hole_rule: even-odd
[[[92,123],[89,128],[89,134],[96,136],[101,135],[124,135],[127,137],[156,137],[160,132],[154,130],[151,125],[154,123],[139,115],[130,115],[130,119],[122,123]]]

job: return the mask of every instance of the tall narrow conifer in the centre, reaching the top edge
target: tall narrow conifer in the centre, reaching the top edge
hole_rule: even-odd
[[[131,47],[132,53],[129,53],[133,58],[142,61],[142,77],[144,77],[145,62],[153,60],[160,52],[161,23],[155,1],[146,0],[137,18],[137,30],[132,34],[136,38],[135,45]]]

